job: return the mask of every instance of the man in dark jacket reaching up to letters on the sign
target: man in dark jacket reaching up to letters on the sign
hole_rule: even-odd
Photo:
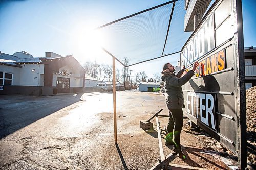
[[[174,145],[174,152],[182,155],[182,158],[186,159],[186,156],[182,153],[180,145],[180,133],[183,126],[183,111],[184,99],[181,86],[186,84],[189,79],[195,74],[194,71],[198,66],[198,62],[195,62],[192,70],[188,71],[183,77],[183,69],[174,74],[174,66],[170,63],[163,65],[162,81],[164,82],[164,88],[166,90],[165,101],[166,107],[169,109],[169,122],[165,131],[166,141],[165,145]]]

